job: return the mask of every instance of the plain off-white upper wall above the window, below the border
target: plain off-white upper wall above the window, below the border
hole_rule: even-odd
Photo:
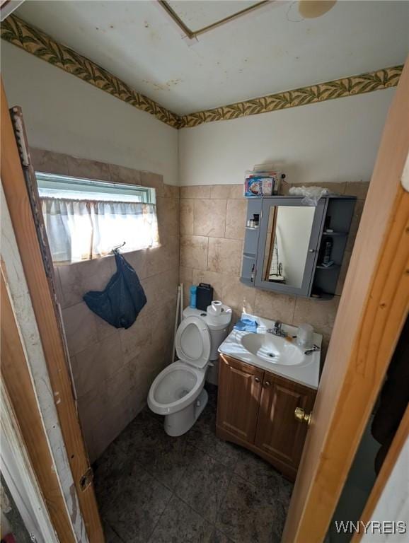
[[[21,105],[30,146],[163,175],[178,185],[178,131],[1,40],[9,107]]]

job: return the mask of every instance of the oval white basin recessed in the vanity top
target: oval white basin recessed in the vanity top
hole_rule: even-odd
[[[297,366],[305,361],[305,354],[291,341],[274,334],[245,334],[241,337],[244,349],[266,362]]]

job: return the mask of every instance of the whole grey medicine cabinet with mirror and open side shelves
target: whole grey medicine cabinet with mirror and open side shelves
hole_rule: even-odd
[[[356,198],[328,195],[248,199],[241,281],[269,291],[328,299],[335,294]]]

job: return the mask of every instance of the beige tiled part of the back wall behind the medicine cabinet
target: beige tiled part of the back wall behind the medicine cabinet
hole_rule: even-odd
[[[290,186],[284,184],[282,194],[287,194]],[[292,325],[311,323],[316,332],[323,334],[325,356],[369,183],[321,183],[320,186],[357,197],[337,296],[321,301],[285,296],[241,284],[239,277],[246,224],[243,186],[202,185],[180,187],[180,281],[185,286],[185,305],[188,304],[190,285],[201,281],[210,283],[214,288],[214,298],[230,305],[235,319],[242,311],[247,311]],[[214,382],[215,378],[215,375],[211,376],[210,380]]]

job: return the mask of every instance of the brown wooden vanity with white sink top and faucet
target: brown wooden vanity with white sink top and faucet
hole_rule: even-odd
[[[292,341],[267,332],[272,321],[258,320],[258,333],[233,330],[219,348],[216,433],[294,481],[316,398],[319,351],[304,355]],[[296,333],[285,329],[291,337]],[[318,346],[321,339],[314,334]]]

